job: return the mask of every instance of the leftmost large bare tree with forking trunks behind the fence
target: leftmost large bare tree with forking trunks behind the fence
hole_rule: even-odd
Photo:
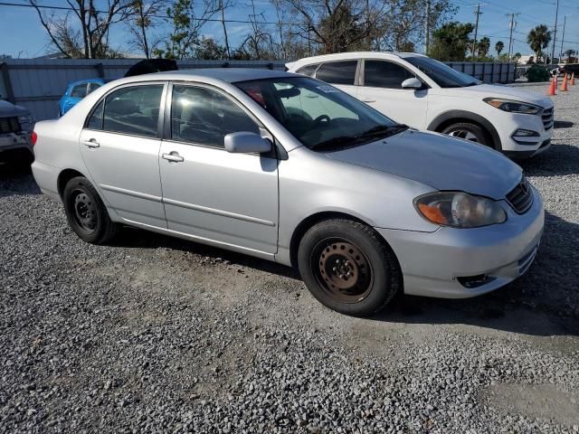
[[[134,6],[134,0],[107,0],[98,5],[95,0],[66,0],[71,13],[59,17],[43,14],[38,0],[28,0],[28,3],[36,10],[52,44],[60,52],[67,57],[87,59],[111,54],[110,26],[127,20],[133,14]]]

